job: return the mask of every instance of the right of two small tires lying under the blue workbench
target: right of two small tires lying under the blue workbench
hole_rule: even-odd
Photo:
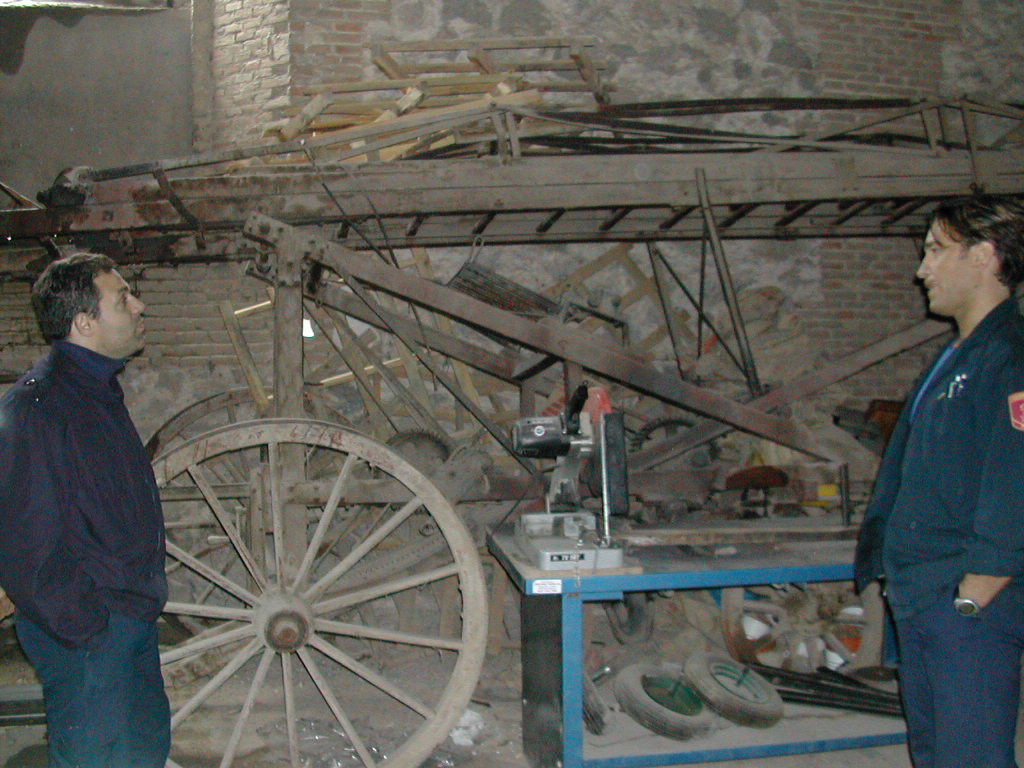
[[[709,707],[733,723],[770,728],[782,719],[778,691],[741,662],[698,652],[686,659],[683,675]],[[741,685],[726,687],[723,679]]]

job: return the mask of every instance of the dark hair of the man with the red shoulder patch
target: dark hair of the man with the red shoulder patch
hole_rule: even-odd
[[[942,203],[932,222],[970,248],[992,244],[999,260],[999,282],[1011,291],[1024,282],[1024,203],[998,195],[975,195]]]

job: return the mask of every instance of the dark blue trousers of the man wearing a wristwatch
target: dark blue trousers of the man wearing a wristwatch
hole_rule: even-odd
[[[1000,593],[962,616],[952,599],[896,622],[914,768],[1015,768],[1024,602]]]

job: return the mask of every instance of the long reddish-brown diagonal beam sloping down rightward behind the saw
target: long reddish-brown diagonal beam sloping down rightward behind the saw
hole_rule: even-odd
[[[244,231],[249,238],[275,245],[288,238],[294,229],[268,216],[252,214]],[[327,243],[315,236],[306,239],[306,249],[308,257],[337,268],[340,273],[349,273],[361,283],[442,312],[472,328],[499,334],[536,351],[578,364],[627,387],[722,421],[744,432],[813,456],[829,458],[827,450],[801,425],[735,402],[676,377],[665,376],[655,371],[647,360],[631,354],[614,343],[595,340],[569,328],[542,325],[506,312],[445,286],[367,259],[355,251]]]

